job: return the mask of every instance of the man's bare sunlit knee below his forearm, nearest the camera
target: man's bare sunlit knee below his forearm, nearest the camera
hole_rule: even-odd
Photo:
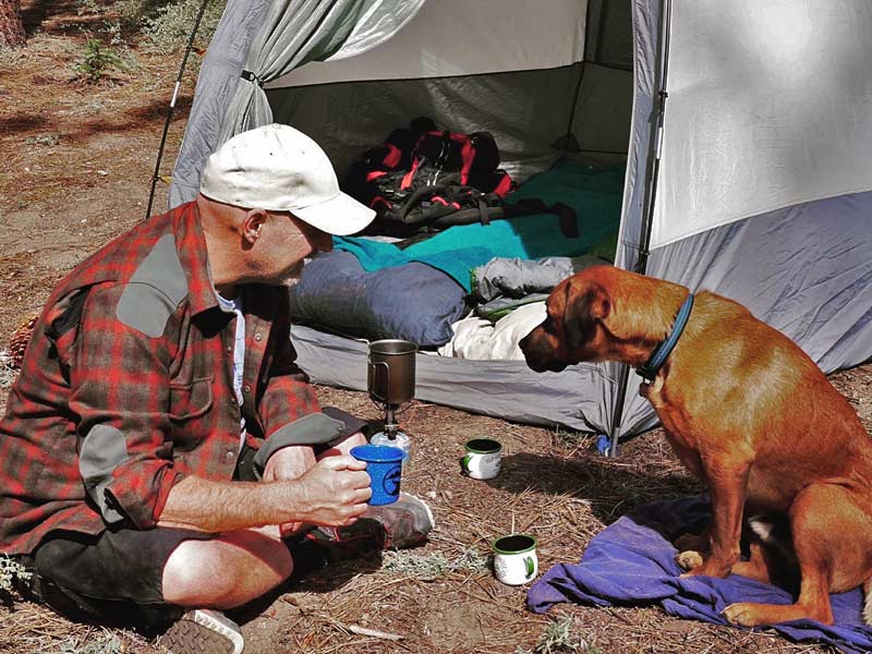
[[[164,598],[179,606],[233,608],[268,593],[292,571],[284,544],[254,530],[184,541],[164,568]]]

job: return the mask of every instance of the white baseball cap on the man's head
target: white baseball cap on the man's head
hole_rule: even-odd
[[[317,143],[278,123],[221,145],[206,161],[199,192],[239,207],[291,211],[338,237],[361,231],[375,217],[339,190],[334,167]]]

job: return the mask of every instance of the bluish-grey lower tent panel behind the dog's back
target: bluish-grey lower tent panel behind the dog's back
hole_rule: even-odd
[[[872,355],[870,216],[872,193],[779,209],[654,250],[649,275],[741,302],[829,373]],[[622,433],[656,422],[641,382]]]

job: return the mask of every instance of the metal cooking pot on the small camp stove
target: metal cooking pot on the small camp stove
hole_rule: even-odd
[[[366,387],[376,402],[399,407],[415,397],[415,354],[411,341],[385,339],[370,343]]]

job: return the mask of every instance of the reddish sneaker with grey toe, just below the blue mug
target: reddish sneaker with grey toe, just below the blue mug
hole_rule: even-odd
[[[316,526],[306,534],[331,553],[332,560],[367,554],[377,549],[403,549],[427,540],[435,521],[423,500],[400,493],[397,501],[371,506],[349,526]]]

